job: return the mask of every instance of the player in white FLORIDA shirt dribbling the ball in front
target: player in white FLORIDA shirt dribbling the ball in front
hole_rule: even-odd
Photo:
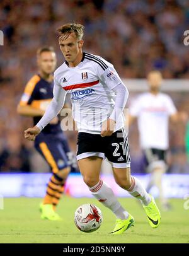
[[[92,194],[117,217],[113,234],[121,234],[134,224],[134,218],[118,202],[112,189],[100,178],[103,158],[112,163],[115,181],[139,199],[149,224],[157,228],[160,212],[153,197],[140,181],[130,175],[129,143],[123,128],[123,108],[128,90],[110,62],[83,52],[83,25],[59,28],[59,45],[66,61],[54,73],[54,98],[35,127],[25,131],[35,139],[59,113],[66,93],[71,95],[72,112],[79,129],[77,161],[84,182]]]

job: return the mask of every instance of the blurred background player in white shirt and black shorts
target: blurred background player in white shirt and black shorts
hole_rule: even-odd
[[[186,114],[178,113],[173,100],[160,93],[162,76],[159,71],[147,75],[149,91],[137,96],[129,108],[129,125],[138,120],[140,147],[144,152],[147,172],[151,173],[147,192],[153,185],[159,190],[159,199],[164,210],[170,205],[164,196],[162,177],[166,172],[166,151],[168,149],[168,123],[186,120]]]

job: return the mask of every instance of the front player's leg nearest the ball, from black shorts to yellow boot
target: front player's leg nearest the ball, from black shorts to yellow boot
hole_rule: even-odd
[[[108,207],[117,216],[118,220],[123,220],[124,223],[122,223],[121,228],[115,230],[114,233],[123,233],[123,231],[127,230],[134,223],[134,219],[131,219],[129,213],[118,202],[112,189],[100,180],[101,163],[105,156],[105,142],[105,137],[103,138],[98,134],[79,132],[77,161],[84,182],[88,185],[92,194],[104,206]],[[127,219],[127,223],[125,223],[125,219]]]

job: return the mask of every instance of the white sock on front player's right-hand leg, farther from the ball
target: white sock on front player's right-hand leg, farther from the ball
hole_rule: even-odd
[[[142,201],[142,204],[147,206],[151,202],[151,197],[149,196],[149,194],[147,194],[146,190],[144,189],[142,183],[140,183],[140,180],[138,178],[131,178],[131,186],[129,189],[127,189],[127,191],[129,192],[130,195],[137,199],[140,199],[140,201]]]

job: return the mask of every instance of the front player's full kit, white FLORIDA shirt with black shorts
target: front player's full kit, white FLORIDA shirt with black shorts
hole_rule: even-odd
[[[99,56],[83,53],[76,67],[64,62],[54,73],[54,98],[37,127],[42,130],[71,96],[72,115],[77,124],[77,160],[89,156],[107,158],[117,168],[130,167],[129,143],[123,108],[129,92],[112,64]],[[103,121],[116,122],[112,136],[101,137]]]

